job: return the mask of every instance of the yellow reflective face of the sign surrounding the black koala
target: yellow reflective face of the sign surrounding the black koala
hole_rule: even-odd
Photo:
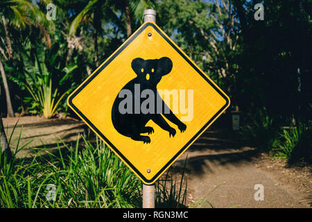
[[[188,90],[192,90],[193,111],[189,109],[186,114],[180,104],[173,104],[180,101],[171,101],[171,110],[177,107],[173,112],[177,112],[175,116],[187,125],[187,130],[180,133],[175,124],[166,120],[177,131],[175,137],[169,137],[167,131],[150,120],[146,126],[153,127],[154,133],[142,134],[148,135],[151,141],[144,144],[115,130],[112,105],[123,86],[137,76],[131,68],[133,59],[162,57],[170,58],[173,68],[162,77],[157,89],[175,90],[186,105],[191,104]],[[149,78],[150,74],[146,75],[146,79]],[[69,105],[143,182],[151,184],[222,114],[229,106],[229,99],[156,24],[148,22],[69,96]]]

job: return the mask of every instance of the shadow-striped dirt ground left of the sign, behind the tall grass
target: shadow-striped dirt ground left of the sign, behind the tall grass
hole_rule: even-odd
[[[3,118],[3,126],[8,139],[12,134],[15,123],[17,123],[17,128],[15,128],[12,135],[10,142],[11,149],[16,148],[20,132],[19,148],[31,142],[31,144],[17,154],[17,157],[30,157],[33,155],[30,147],[36,150],[40,148],[55,149],[58,146],[57,139],[61,147],[63,145],[60,139],[66,144],[73,143],[76,141],[78,133],[83,133],[83,126],[85,126],[85,123],[73,119],[46,119],[44,117],[31,116]]]

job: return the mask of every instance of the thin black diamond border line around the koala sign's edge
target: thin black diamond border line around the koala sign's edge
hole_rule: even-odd
[[[125,156],[124,156],[124,155],[123,155],[123,154],[122,154],[122,153],[121,153],[121,152],[120,152],[104,135],[103,135],[103,133],[101,133],[100,130],[98,130],[98,128],[96,128],[96,127],[94,126],[94,124],[93,124],[91,121],[89,121],[89,119],[87,119],[87,117],[85,117],[85,115],[84,115],[82,112],[80,112],[80,110],[78,110],[78,108],[76,108],[75,105],[73,105],[73,98],[74,98],[79,92],[81,92],[81,90],[83,90],[83,89],[85,88],[85,86],[88,85],[98,74],[100,74],[101,71],[102,71],[103,69],[105,69],[105,67],[107,67],[107,65],[109,65],[110,62],[112,62],[112,60],[114,60],[114,58],[116,58],[116,57],[121,53],[121,51],[123,51],[133,40],[135,40],[135,38],[136,38],[142,31],[144,31],[148,26],[152,26],[153,28],[155,28],[155,30],[157,31],[157,33],[159,33],[159,35],[161,35],[161,36],[173,47],[173,49],[175,49],[175,51],[177,51],[177,53],[179,53],[180,56],[182,56],[182,58],[184,58],[184,60],[186,60],[186,61],[189,63],[189,65],[191,65],[191,67],[193,67],[193,69],[195,69],[195,70],[198,72],[198,74],[200,74],[200,76],[202,76],[202,78],[204,78],[204,79],[207,81],[207,83],[209,83],[209,85],[211,85],[211,87],[213,87],[213,88],[218,92],[218,94],[220,94],[220,96],[223,97],[223,99],[225,99],[225,105],[224,105],[222,108],[220,108],[220,110],[218,110],[218,112],[216,112],[216,114],[214,114],[214,117],[212,117],[212,118],[205,124],[205,126],[203,126],[203,127],[198,131],[198,133],[196,133],[196,135],[194,135],[194,136],[192,137],[192,139],[190,139],[189,142],[187,142],[187,144],[185,144],[185,145],[180,149],[180,151],[177,152],[177,154],[175,154],[175,155],[171,158],[171,160],[170,160],[160,171],[158,171],[158,172],[155,174],[155,176],[154,176],[152,179],[150,179],[150,180],[146,179],[146,178],[143,176],[143,174],[140,173],[140,172],[137,170],[137,168],[135,168],[135,166],[133,166],[133,165],[131,164],[131,162],[129,162],[129,161],[125,158]],[[191,145],[191,144],[195,141],[196,137],[198,137],[198,135],[200,135],[201,133],[203,133],[203,131],[205,130],[205,128],[207,128],[207,126],[208,126],[212,121],[214,121],[214,120],[216,119],[216,117],[218,117],[218,114],[220,114],[220,112],[223,112],[223,110],[225,110],[225,108],[227,108],[227,106],[229,105],[229,99],[227,98],[227,96],[225,96],[225,94],[224,94],[223,92],[221,92],[220,89],[218,89],[218,87],[216,87],[216,85],[214,85],[214,83],[212,83],[211,80],[209,80],[209,78],[207,78],[207,76],[206,76],[205,74],[203,74],[202,71],[200,71],[200,69],[198,69],[195,65],[193,65],[193,63],[191,62],[191,60],[189,60],[189,58],[187,58],[187,56],[185,56],[185,55],[180,51],[180,49],[178,49],[177,46],[175,46],[175,44],[173,44],[173,43],[171,42],[171,40],[169,40],[168,37],[166,37],[166,35],[164,35],[164,33],[162,33],[162,31],[159,30],[159,28],[157,28],[157,26],[155,26],[153,23],[150,23],[150,22],[147,22],[146,24],[144,24],[144,26],[141,26],[141,28],[139,28],[139,30],[138,30],[136,33],[134,33],[134,34],[130,37],[130,39],[129,39],[127,42],[125,42],[125,44],[123,44],[123,45],[121,46],[121,48],[118,49],[118,50],[112,55],[112,57],[110,57],[103,65],[101,65],[101,67],[100,67],[98,70],[96,70],[96,73],[95,73],[95,74],[92,74],[92,76],[90,76],[90,78],[88,78],[87,81],[85,81],[85,83],[83,83],[83,85],[80,85],[80,87],[76,90],[76,92],[74,92],[73,94],[71,94],[71,95],[69,96],[68,102],[69,102],[69,105],[71,105],[71,108],[73,108],[73,109],[80,115],[80,117],[82,117],[82,118],[89,124],[89,126],[91,126],[92,129],[93,129],[94,131],[96,131],[96,133],[98,133],[98,135],[100,135],[100,136],[102,137],[102,139],[104,139],[105,143],[108,144],[111,148],[113,148],[114,151],[115,151],[116,153],[118,153],[118,155],[123,159],[123,161],[125,161],[125,162],[132,168],[132,170],[134,170],[134,171],[144,180],[144,182],[146,182],[146,183],[153,182],[153,180],[155,180],[155,178],[157,178],[161,173],[163,173],[164,170],[165,170],[169,165],[171,165],[171,164],[173,163],[173,161],[180,155],[180,153],[182,153],[189,145]]]

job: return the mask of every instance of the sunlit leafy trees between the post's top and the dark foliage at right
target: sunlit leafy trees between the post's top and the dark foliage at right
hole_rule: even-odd
[[[239,21],[232,1],[164,0],[158,2],[157,12],[159,25],[223,90],[230,91],[239,52]]]

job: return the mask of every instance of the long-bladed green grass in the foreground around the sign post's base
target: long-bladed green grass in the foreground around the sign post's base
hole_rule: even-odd
[[[18,141],[20,138],[21,132]],[[61,141],[64,148],[56,140],[56,152],[40,148],[28,159],[17,159],[16,155],[31,142],[21,147],[17,142],[14,152],[3,153],[0,207],[141,207],[142,183],[137,176],[98,137],[93,143],[79,138],[74,146]],[[48,200],[53,195],[55,198]],[[184,206],[186,196],[184,173],[179,182],[167,174],[156,184],[158,207]]]

